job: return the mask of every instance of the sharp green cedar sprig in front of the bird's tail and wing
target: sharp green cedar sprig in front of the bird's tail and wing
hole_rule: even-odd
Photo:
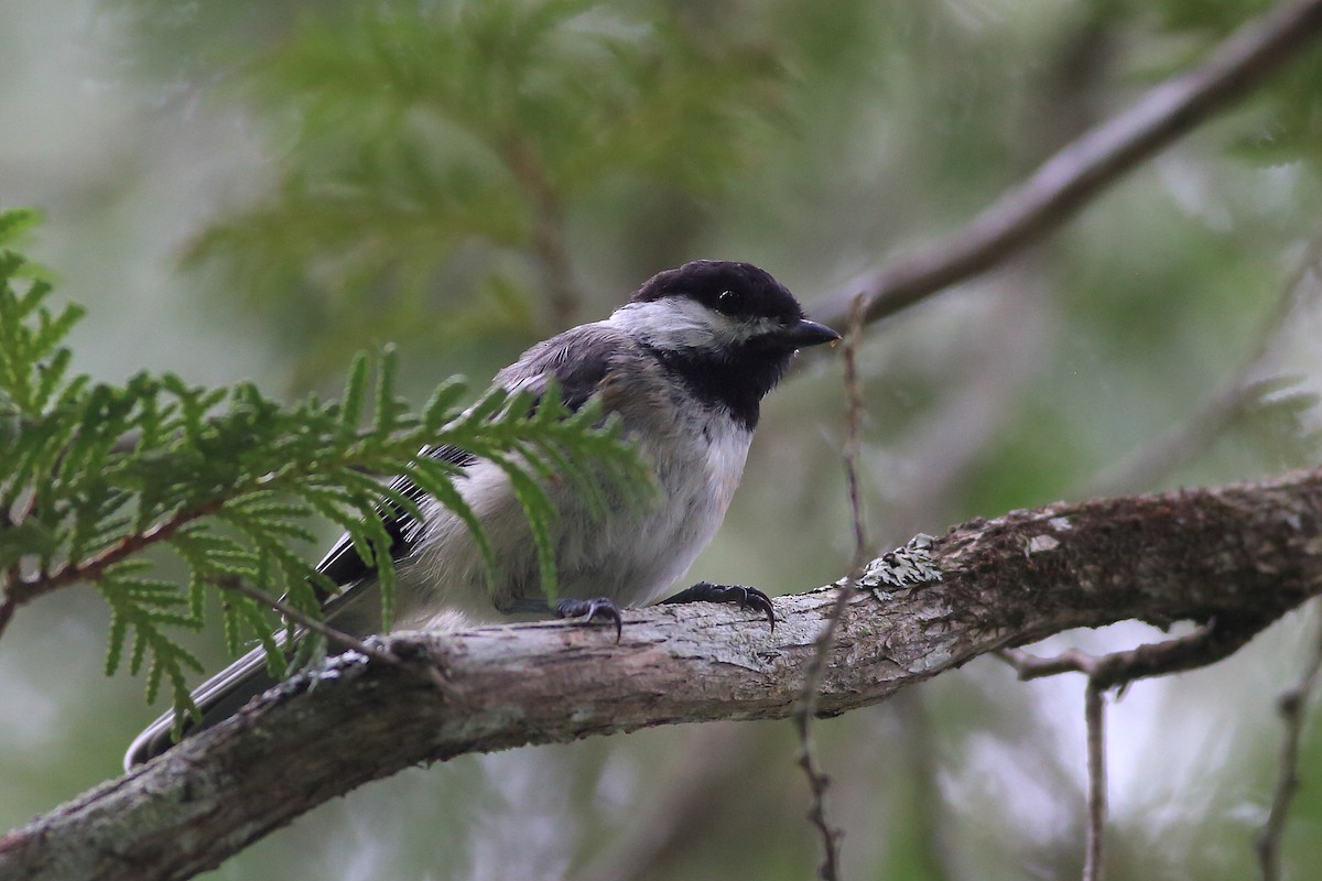
[[[141,372],[116,387],[70,375],[61,343],[83,312],[53,312],[50,285],[8,247],[34,219],[0,213],[0,627],[25,602],[91,584],[111,609],[106,672],[145,671],[149,701],[167,680],[177,711],[192,709],[185,670],[201,664],[176,638],[204,626],[209,589],[238,580],[319,616],[336,585],[296,549],[315,540],[313,515],[344,527],[377,567],[389,622],[395,576],[378,510],[389,502],[420,514],[382,477],[405,476],[461,516],[493,573],[456,483],[461,469],[424,446],[453,445],[505,470],[553,597],[557,511],[546,485],[567,482],[599,514],[608,493],[637,502],[650,486],[619,423],[591,403],[570,412],[554,388],[537,402],[492,390],[464,408],[463,384],[449,380],[412,412],[394,392],[389,350],[353,362],[342,400],[293,407],[249,383],[202,388]],[[184,561],[185,584],[152,576],[156,548]],[[227,589],[222,616],[233,652],[256,638],[283,668],[270,609]]]

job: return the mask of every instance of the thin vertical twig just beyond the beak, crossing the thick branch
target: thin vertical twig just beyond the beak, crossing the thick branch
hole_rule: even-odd
[[[854,526],[854,557],[843,586],[836,594],[836,604],[826,626],[813,650],[813,658],[808,664],[804,676],[804,691],[795,711],[795,728],[798,732],[798,766],[808,777],[808,787],[812,791],[812,804],[808,808],[808,819],[817,829],[822,841],[822,863],[818,866],[818,877],[822,881],[836,881],[839,878],[839,837],[841,832],[832,828],[826,818],[826,790],[830,789],[830,779],[822,773],[813,750],[812,732],[809,730],[813,716],[817,715],[817,695],[821,691],[822,676],[826,675],[826,659],[836,645],[836,634],[839,622],[845,617],[845,608],[854,594],[855,584],[863,575],[867,563],[867,535],[863,527],[863,499],[858,481],[858,452],[859,435],[863,423],[863,388],[858,376],[858,345],[863,333],[863,297],[854,301],[854,309],[849,316],[849,328],[845,339],[845,396],[849,402],[845,429],[845,483],[849,487],[849,506]]]

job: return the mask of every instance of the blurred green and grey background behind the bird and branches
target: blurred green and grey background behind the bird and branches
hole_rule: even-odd
[[[1268,5],[7,0],[0,201],[45,211],[32,251],[90,308],[75,366],[98,378],[334,394],[353,351],[390,341],[422,403],[693,258],[755,262],[810,310]],[[1319,160],[1310,49],[1044,244],[871,328],[878,546],[1103,485],[1314,462]],[[846,568],[828,361],[769,399],[694,579],[777,593]],[[1167,464],[1133,465],[1245,387],[1261,394],[1159,448]],[[1273,696],[1311,618],[1113,707],[1110,878],[1253,873]],[[102,678],[106,629],[75,589],[0,642],[4,828],[115,775],[153,716],[140,682]],[[1120,625],[1042,650],[1157,637]],[[200,651],[223,662],[218,634]],[[982,659],[820,722],[846,876],[1076,876],[1081,692]],[[209,877],[809,877],[795,749],[788,724],[731,724],[465,757],[327,804]],[[1315,726],[1301,770],[1294,878],[1322,864]]]

